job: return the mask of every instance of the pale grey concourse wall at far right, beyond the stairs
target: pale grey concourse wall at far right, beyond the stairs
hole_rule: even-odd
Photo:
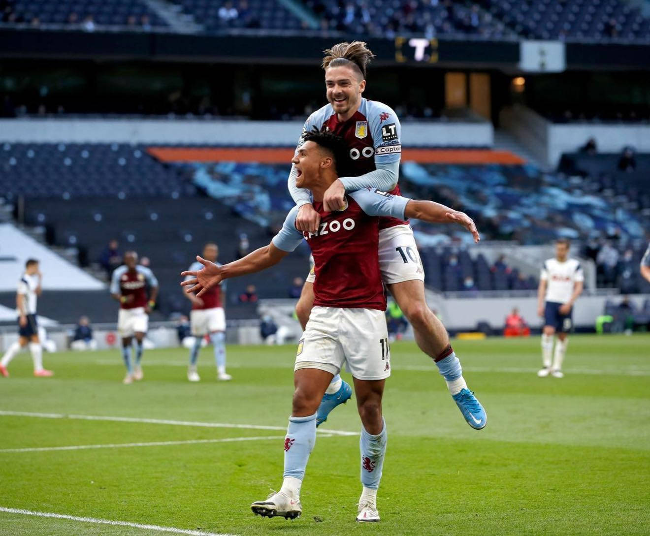
[[[650,153],[650,125],[642,123],[553,123],[522,105],[504,108],[500,121],[549,168],[556,168],[562,153],[575,153],[589,138],[596,140],[601,153],[620,153],[625,146]]]

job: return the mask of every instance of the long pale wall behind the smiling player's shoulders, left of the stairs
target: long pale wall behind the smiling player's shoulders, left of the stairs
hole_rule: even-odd
[[[0,142],[291,147],[302,127],[302,121],[20,118],[0,120]],[[491,147],[493,136],[487,121],[402,123],[408,147]]]

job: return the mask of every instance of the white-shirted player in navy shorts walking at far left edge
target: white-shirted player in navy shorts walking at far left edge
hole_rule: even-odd
[[[16,314],[18,315],[18,341],[7,348],[2,361],[0,361],[0,374],[9,376],[6,370],[16,354],[29,344],[29,351],[32,354],[34,363],[34,376],[53,376],[51,370],[43,368],[43,348],[38,339],[38,324],[36,323],[36,298],[41,295],[42,275],[38,269],[36,259],[28,259],[25,263],[25,273],[18,281],[18,292],[16,292]]]

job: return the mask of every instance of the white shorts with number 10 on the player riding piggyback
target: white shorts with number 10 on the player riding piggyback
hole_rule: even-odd
[[[385,285],[414,279],[424,281],[422,261],[411,225],[395,225],[379,231],[379,270]],[[305,281],[316,281],[313,265]]]

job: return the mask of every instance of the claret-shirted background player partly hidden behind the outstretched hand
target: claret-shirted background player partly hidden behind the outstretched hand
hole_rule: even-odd
[[[219,248],[213,242],[203,246],[203,259],[216,262],[219,256]],[[216,262],[217,266],[221,266]],[[203,264],[193,262],[189,271],[201,270]],[[197,298],[194,294],[185,294],[192,301],[190,312],[190,325],[194,336],[194,346],[190,350],[190,364],[187,368],[187,379],[189,381],[200,381],[201,377],[196,370],[196,361],[199,359],[201,342],[203,337],[209,335],[214,346],[214,362],[216,363],[216,377],[221,380],[232,379],[226,374],[226,313],[224,312],[222,288],[224,285],[217,285]]]

